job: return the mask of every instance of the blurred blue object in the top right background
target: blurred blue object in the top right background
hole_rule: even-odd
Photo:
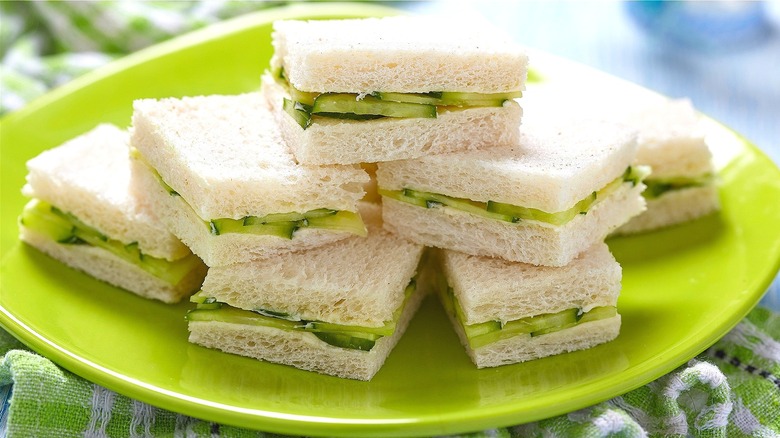
[[[628,15],[649,36],[692,50],[738,50],[771,33],[759,1],[629,1]]]

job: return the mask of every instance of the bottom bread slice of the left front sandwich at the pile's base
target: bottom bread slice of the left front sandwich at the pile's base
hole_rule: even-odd
[[[225,322],[190,321],[189,341],[227,353],[345,379],[371,380],[406,331],[422,301],[418,289],[406,303],[395,332],[377,340],[370,351],[334,347],[311,333]]]

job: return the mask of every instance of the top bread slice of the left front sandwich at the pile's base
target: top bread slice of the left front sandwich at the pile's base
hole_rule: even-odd
[[[382,229],[381,208],[362,204],[368,237],[305,252],[211,268],[203,291],[242,309],[305,320],[379,327],[393,319],[423,246]]]

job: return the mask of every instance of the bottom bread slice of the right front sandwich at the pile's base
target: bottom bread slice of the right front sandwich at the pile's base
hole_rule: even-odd
[[[452,319],[452,317],[451,317]],[[463,327],[452,321],[461,343],[477,368],[497,367],[571,351],[585,350],[609,342],[620,334],[620,315],[577,324],[542,336],[515,336],[472,349]]]

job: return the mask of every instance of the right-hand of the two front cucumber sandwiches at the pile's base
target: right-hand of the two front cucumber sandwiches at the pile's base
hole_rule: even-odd
[[[436,292],[478,368],[582,350],[618,336],[621,268],[603,242],[564,267],[447,250],[438,256],[443,269]]]

